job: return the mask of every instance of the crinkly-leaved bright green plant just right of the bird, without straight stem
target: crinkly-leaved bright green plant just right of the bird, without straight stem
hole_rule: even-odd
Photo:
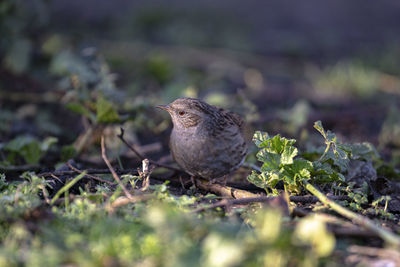
[[[311,180],[315,183],[343,182],[351,159],[372,160],[378,157],[375,148],[369,143],[343,144],[331,131],[325,131],[320,121],[314,124],[324,138],[325,147],[318,160],[295,158],[298,150],[294,146],[296,140],[276,135],[270,137],[267,133],[257,131],[253,141],[260,149],[257,159],[263,164],[261,173],[253,171],[248,180],[258,187],[271,190],[278,194],[276,185],[283,182],[285,189],[291,193],[300,194],[303,190],[302,181]]]

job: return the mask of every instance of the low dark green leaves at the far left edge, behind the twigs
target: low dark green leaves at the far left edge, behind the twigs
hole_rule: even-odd
[[[17,157],[22,157],[28,164],[37,164],[52,145],[57,143],[57,138],[47,137],[39,141],[30,135],[20,135],[1,147],[1,150],[9,152],[8,164],[18,164]]]

